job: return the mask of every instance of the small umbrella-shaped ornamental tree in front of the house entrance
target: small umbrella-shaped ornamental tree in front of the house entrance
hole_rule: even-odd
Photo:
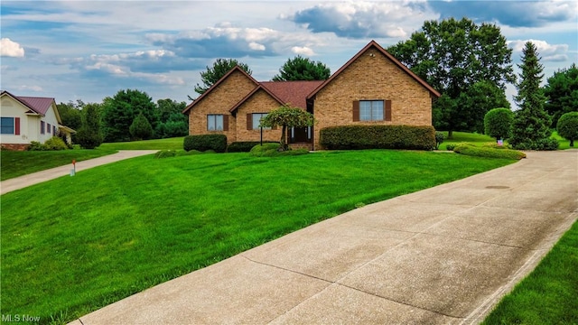
[[[285,151],[289,147],[286,142],[287,127],[305,127],[315,124],[315,118],[311,113],[304,111],[299,107],[291,107],[285,104],[282,107],[270,111],[265,117],[261,118],[263,127],[282,126],[281,139],[279,140],[279,151]]]

